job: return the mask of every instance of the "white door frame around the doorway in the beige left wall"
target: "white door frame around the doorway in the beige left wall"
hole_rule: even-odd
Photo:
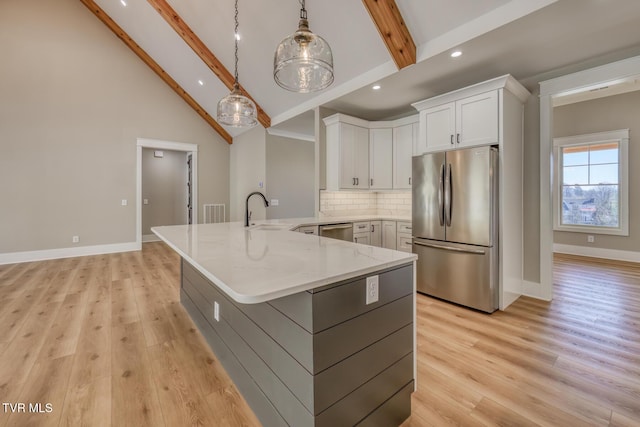
[[[183,151],[191,154],[191,204],[193,224],[198,223],[198,145],[184,142],[162,141],[159,139],[138,138],[136,144],[136,248],[142,249],[142,149]]]

